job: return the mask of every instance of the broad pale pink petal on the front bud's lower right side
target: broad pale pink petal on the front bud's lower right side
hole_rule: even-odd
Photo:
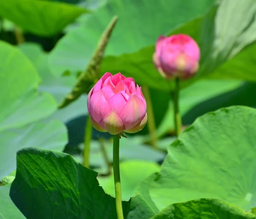
[[[137,95],[132,94],[118,115],[128,130],[137,125],[145,114],[146,105]]]

